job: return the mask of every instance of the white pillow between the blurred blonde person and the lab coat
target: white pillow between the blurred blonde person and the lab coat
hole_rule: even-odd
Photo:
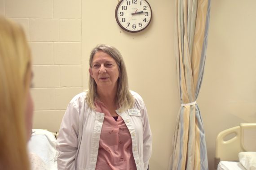
[[[55,136],[43,129],[32,129],[32,136],[28,142],[28,151],[38,155],[49,170],[56,169],[54,161],[57,160]]]

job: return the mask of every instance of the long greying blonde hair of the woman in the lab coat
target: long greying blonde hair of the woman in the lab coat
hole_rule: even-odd
[[[115,59],[115,62],[118,65],[118,70],[119,70],[120,76],[118,78],[116,102],[120,106],[119,110],[124,111],[128,108],[131,108],[134,104],[134,99],[132,97],[132,94],[129,92],[127,71],[126,71],[124,59],[123,59],[121,53],[115,47],[105,45],[105,44],[99,44],[99,45],[97,45],[97,47],[95,47],[91,51],[91,55],[90,55],[90,59],[89,59],[90,68],[93,67],[93,56],[98,51],[102,51],[102,52],[110,55],[113,59]],[[96,97],[97,97],[97,84],[94,81],[93,77],[90,76],[89,90],[87,93],[87,103],[92,109],[95,109],[94,101],[95,101]]]

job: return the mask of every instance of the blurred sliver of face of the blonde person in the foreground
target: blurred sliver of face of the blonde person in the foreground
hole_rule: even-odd
[[[29,82],[31,82],[32,75],[29,77]],[[32,119],[33,119],[33,111],[34,111],[34,103],[31,97],[30,89],[27,90],[26,93],[26,107],[25,107],[25,123],[26,123],[26,136],[27,140],[31,137],[32,131]]]

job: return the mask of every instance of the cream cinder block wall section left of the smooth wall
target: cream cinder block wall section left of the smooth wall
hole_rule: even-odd
[[[0,14],[23,26],[31,46],[33,128],[57,131],[82,91],[81,0],[0,0]]]

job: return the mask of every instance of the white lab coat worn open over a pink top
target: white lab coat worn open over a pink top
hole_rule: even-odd
[[[141,96],[135,98],[132,109],[141,116],[129,115],[128,110],[117,112],[128,127],[132,138],[132,153],[137,170],[147,170],[152,151],[152,136],[145,104]],[[92,110],[86,92],[79,93],[69,103],[57,138],[58,170],[95,170],[104,113]]]

